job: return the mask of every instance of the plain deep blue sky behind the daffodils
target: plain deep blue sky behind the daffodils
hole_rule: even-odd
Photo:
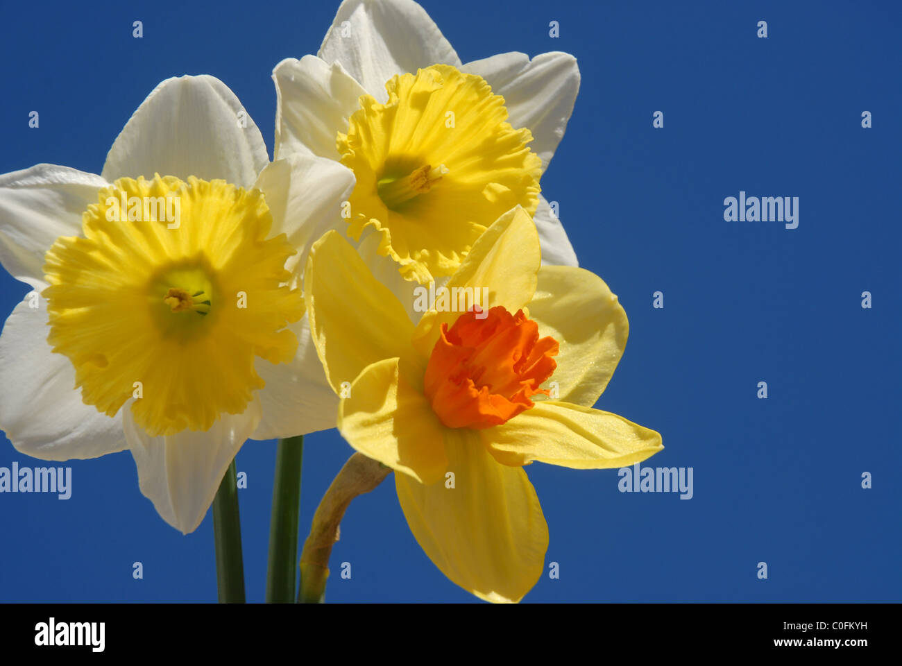
[[[902,5],[422,4],[465,62],[503,51],[579,60],[582,88],[542,189],[630,318],[597,406],[662,433],[666,449],[647,465],[695,470],[686,501],[621,494],[616,470],[529,467],[560,578],[541,578],[526,601],[902,600]],[[272,68],[316,53],[337,5],[4,2],[0,172],[99,172],[143,98],[181,74],[223,79],[272,156]],[[767,39],[756,37],[762,19]],[[740,190],[799,197],[799,227],[724,222],[723,199]],[[3,317],[27,291],[3,273]],[[308,437],[301,540],[351,452],[335,430]],[[250,601],[265,587],[274,459],[272,441],[237,458]],[[37,464],[4,440],[0,466],[13,460]],[[128,452],[64,465],[68,501],[0,495],[0,601],[216,600],[210,513],[187,537],[163,523]],[[132,578],[138,560],[143,580]],[[337,575],[343,561],[350,580]],[[475,600],[419,549],[391,479],[352,504],[332,564],[329,601]]]

